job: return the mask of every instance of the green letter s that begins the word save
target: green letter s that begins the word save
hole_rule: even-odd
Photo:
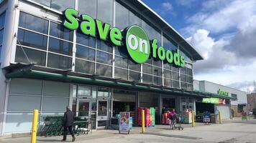
[[[66,9],[64,14],[65,14],[65,21],[63,25],[70,30],[78,29],[79,24],[78,24],[78,21],[76,20],[79,14],[78,11],[76,11],[75,9]]]

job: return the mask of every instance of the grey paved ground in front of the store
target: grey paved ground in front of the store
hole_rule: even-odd
[[[241,121],[234,119],[224,122],[224,124],[204,125],[196,123],[196,127],[184,124],[183,131],[170,130],[167,125],[158,125],[155,128],[146,129],[145,134],[141,134],[141,128],[135,127],[130,134],[119,134],[115,130],[94,131],[93,134],[86,134],[76,137],[76,142],[86,143],[109,143],[109,142],[255,142],[256,143],[256,119]],[[2,143],[27,143],[29,137],[4,138],[0,137]],[[60,142],[62,137],[37,137],[37,142]],[[70,142],[71,137],[68,137]]]

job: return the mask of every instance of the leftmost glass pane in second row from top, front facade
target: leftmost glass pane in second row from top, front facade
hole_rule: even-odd
[[[19,29],[18,40],[17,44],[20,42],[20,44],[24,46],[31,46],[33,48],[46,50],[47,36]]]

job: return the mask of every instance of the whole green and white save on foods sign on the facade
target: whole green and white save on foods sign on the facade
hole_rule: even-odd
[[[142,27],[133,25],[121,31],[110,24],[103,23],[99,19],[81,14],[75,9],[66,9],[63,26],[70,30],[80,29],[83,34],[99,37],[104,41],[111,41],[116,46],[126,46],[129,56],[138,64],[145,63],[150,55],[162,61],[168,61],[175,66],[184,67],[185,58],[180,56],[180,51],[165,50],[162,46],[157,46],[157,39],[150,39]],[[79,20],[78,20],[79,19]]]

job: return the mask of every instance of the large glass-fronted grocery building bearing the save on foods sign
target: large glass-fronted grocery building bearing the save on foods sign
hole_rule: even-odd
[[[154,107],[160,124],[163,107],[221,97],[193,92],[202,57],[142,1],[1,1],[0,53],[0,134],[29,132],[33,109],[43,124],[69,105],[102,129],[122,111],[136,124],[138,107]]]

